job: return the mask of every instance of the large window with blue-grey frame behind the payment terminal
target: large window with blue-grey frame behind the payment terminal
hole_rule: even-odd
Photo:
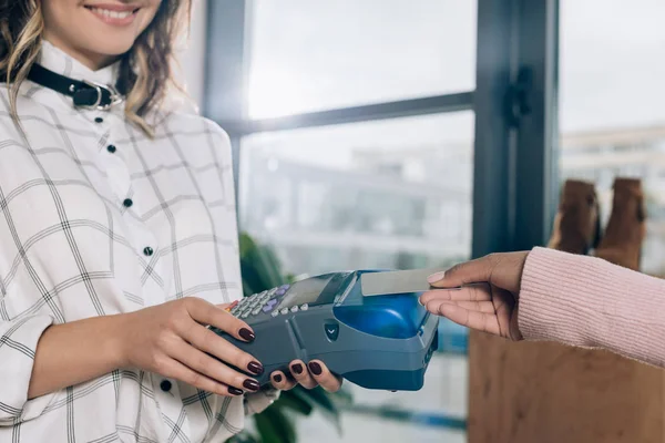
[[[521,204],[519,190],[549,190],[549,155],[524,167],[515,153],[551,148],[549,135],[534,131],[549,102],[505,99],[520,91],[511,81],[521,64],[552,52],[554,39],[541,32],[555,29],[550,2],[219,0],[208,8],[208,47],[221,49],[208,58],[206,114],[239,153],[241,228],[273,245],[286,271],[446,267],[541,236],[544,228],[531,227],[544,225],[549,202]],[[526,18],[533,25],[522,25]],[[550,75],[533,81],[538,94],[552,92]],[[514,136],[508,104],[531,112],[520,126],[530,136]],[[463,442],[466,332],[441,321],[442,352],[426,389],[356,390],[341,441]],[[316,419],[300,426],[321,443],[340,441]]]

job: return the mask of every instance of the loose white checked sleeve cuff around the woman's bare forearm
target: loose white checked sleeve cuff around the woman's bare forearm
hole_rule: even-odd
[[[50,316],[0,321],[0,426],[41,415],[55,395],[28,400],[37,343],[52,323]]]

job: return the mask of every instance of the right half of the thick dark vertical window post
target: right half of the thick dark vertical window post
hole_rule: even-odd
[[[520,0],[519,66],[531,72],[516,136],[513,249],[545,245],[557,198],[559,0]]]

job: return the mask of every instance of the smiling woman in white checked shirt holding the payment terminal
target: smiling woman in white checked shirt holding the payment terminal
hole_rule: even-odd
[[[259,390],[229,141],[172,100],[190,1],[0,0],[0,441],[224,441]],[[214,356],[215,358],[211,357]],[[234,369],[234,368],[237,368]]]

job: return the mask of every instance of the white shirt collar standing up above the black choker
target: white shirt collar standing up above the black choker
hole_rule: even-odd
[[[74,80],[88,80],[101,84],[114,84],[117,79],[117,68],[120,62],[93,71],[44,40],[40,51],[39,64],[58,74]]]

